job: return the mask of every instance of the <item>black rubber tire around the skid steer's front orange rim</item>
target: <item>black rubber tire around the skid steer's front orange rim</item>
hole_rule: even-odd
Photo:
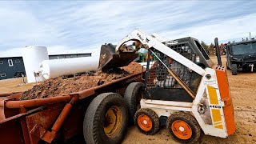
[[[148,131],[142,130],[142,128],[138,125],[138,117],[141,114],[145,114],[146,116],[148,116],[150,118],[150,121],[152,122],[152,127]],[[147,134],[147,135],[155,134],[159,130],[159,125],[160,125],[158,114],[156,114],[153,110],[146,109],[146,108],[140,109],[135,113],[134,123],[135,123],[135,126],[138,127],[138,130],[141,130],[143,134]]]

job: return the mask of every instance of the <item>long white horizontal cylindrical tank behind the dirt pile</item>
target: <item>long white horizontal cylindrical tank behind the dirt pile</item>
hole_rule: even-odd
[[[40,71],[46,79],[98,69],[99,56],[42,61]]]

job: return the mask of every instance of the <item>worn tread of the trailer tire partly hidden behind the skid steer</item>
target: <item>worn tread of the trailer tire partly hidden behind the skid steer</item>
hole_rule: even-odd
[[[144,84],[142,82],[132,82],[126,88],[124,98],[129,107],[130,119],[132,120],[134,119],[134,114],[137,111],[137,103],[136,103],[137,94],[139,90],[142,90],[143,88],[144,88]]]

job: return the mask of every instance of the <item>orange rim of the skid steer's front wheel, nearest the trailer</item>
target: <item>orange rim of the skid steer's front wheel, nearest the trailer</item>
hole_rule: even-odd
[[[150,117],[145,114],[138,116],[138,126],[144,131],[150,131],[152,129],[152,121]]]

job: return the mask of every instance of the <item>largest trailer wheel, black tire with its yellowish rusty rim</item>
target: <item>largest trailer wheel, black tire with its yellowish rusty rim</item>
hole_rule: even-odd
[[[127,118],[126,102],[121,95],[99,94],[90,102],[83,121],[86,143],[121,143]]]

